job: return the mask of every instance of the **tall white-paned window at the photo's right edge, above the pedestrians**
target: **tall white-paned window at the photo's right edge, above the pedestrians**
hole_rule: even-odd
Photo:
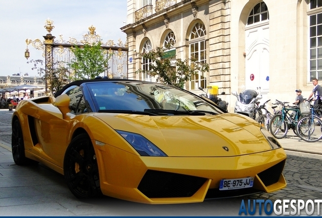
[[[321,0],[311,0],[309,9],[322,7]],[[308,80],[322,80],[322,13],[309,15],[309,75]]]

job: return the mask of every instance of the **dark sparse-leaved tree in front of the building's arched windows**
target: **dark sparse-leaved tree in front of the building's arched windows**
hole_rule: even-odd
[[[200,71],[209,72],[207,63],[196,62],[194,58],[182,61],[174,59],[174,56],[166,57],[165,51],[167,49],[169,47],[156,47],[154,50],[141,53],[140,56],[149,59],[151,64],[149,64],[148,70],[140,69],[136,73],[147,73],[151,77],[156,76],[157,82],[183,88],[184,84],[191,80],[192,75],[196,75]]]

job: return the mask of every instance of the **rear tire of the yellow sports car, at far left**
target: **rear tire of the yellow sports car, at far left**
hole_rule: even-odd
[[[25,156],[25,145],[19,120],[15,120],[12,125],[11,149],[16,165],[23,166],[38,163],[37,161],[29,159]]]

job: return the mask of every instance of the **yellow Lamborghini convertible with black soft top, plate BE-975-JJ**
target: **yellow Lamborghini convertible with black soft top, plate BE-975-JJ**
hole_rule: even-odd
[[[78,198],[149,203],[274,192],[287,155],[256,121],[160,83],[75,81],[22,100],[12,118],[17,165],[42,163]]]

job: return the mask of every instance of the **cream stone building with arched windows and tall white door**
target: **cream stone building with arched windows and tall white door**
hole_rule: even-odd
[[[308,97],[311,80],[322,83],[321,0],[128,0],[126,26],[129,78],[148,66],[138,53],[173,41],[169,52],[210,65],[186,84],[218,85],[233,111],[237,93],[258,90],[264,102],[293,102],[296,89]]]

